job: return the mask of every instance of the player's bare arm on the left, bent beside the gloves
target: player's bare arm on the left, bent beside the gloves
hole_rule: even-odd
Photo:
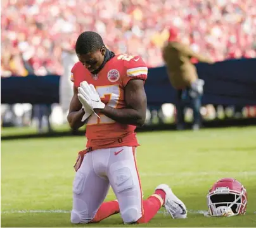
[[[77,88],[74,85],[74,95],[70,101],[69,113],[68,113],[68,123],[72,129],[79,129],[82,125],[86,124],[86,121],[82,122],[82,117],[84,116],[84,109],[82,109],[82,104],[77,97]]]

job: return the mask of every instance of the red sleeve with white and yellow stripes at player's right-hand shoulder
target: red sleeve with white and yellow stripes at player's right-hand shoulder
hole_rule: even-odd
[[[123,86],[127,85],[129,80],[142,79],[146,80],[148,77],[148,67],[140,56],[132,56],[131,60],[124,60],[125,75],[123,77]]]

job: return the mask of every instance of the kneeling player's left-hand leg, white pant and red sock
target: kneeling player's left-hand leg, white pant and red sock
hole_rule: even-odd
[[[96,153],[97,151],[87,153],[75,174],[71,212],[73,224],[99,222],[113,213],[118,213],[119,208],[116,201],[103,203],[110,185],[106,176],[98,175],[95,172],[93,156],[95,158]]]

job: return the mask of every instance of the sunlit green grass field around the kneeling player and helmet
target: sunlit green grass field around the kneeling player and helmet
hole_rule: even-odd
[[[138,167],[146,198],[169,184],[188,208],[188,219],[174,220],[163,209],[142,227],[256,227],[256,127],[199,132],[138,134]],[[1,143],[1,227],[120,227],[120,215],[99,224],[72,225],[73,165],[84,137],[27,139]],[[209,218],[208,188],[234,177],[248,191],[245,216]],[[115,196],[112,191],[106,200]]]

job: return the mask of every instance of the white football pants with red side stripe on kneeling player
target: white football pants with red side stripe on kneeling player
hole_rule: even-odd
[[[97,149],[84,156],[73,184],[71,222],[78,224],[93,220],[110,186],[117,197],[124,223],[141,218],[143,206],[136,147]]]

